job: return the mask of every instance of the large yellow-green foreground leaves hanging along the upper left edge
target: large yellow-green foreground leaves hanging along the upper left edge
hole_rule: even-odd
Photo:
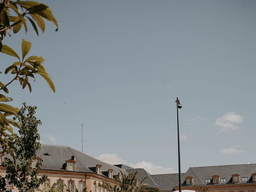
[[[46,4],[36,1],[0,0],[0,52],[14,56],[18,59],[17,62],[14,62],[4,70],[4,74],[8,74],[8,72],[11,71],[11,74],[14,75],[14,77],[6,84],[0,81],[0,91],[4,91],[5,94],[9,94],[7,86],[14,81],[19,81],[23,89],[27,86],[31,92],[32,88],[29,83],[29,79],[34,78],[35,74],[41,75],[50,85],[50,88],[55,92],[54,84],[50,79],[50,75],[42,66],[44,58],[40,56],[30,56],[25,59],[26,55],[30,51],[32,45],[31,42],[22,39],[22,56],[19,56],[8,45],[2,44],[4,37],[7,34],[10,36],[11,30],[16,34],[20,31],[22,26],[24,26],[25,31],[27,32],[27,21],[31,23],[37,35],[37,25],[42,32],[44,32],[45,22],[43,18],[53,22],[57,27],[56,30],[58,30],[57,20],[54,18],[52,11]],[[0,144],[2,145],[2,151],[0,151],[0,153],[10,147],[8,146],[8,143],[13,139],[10,135],[13,133],[10,125],[20,128],[20,124],[22,123],[20,121],[20,124],[18,124],[16,121],[6,118],[11,115],[18,117],[18,108],[2,103],[9,101],[12,101],[12,98],[4,94],[0,94]]]

